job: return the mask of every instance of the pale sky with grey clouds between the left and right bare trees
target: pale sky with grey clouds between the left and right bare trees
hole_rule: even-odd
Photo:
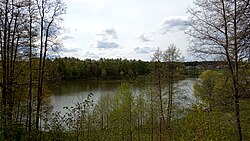
[[[61,57],[151,60],[174,43],[186,56],[193,0],[64,0]]]

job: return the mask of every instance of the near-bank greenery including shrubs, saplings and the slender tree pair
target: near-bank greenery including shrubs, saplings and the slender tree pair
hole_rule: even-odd
[[[115,95],[104,93],[98,101],[93,101],[94,93],[90,93],[86,100],[73,107],[64,107],[66,112],[63,113],[52,111],[49,91],[45,87],[42,122],[39,130],[31,132],[27,130],[25,109],[28,97],[23,95],[24,87],[23,93],[15,95],[15,113],[8,128],[12,140],[236,140],[232,81],[227,71],[203,71],[194,84],[194,95],[190,97],[187,83],[178,83],[183,79],[183,64],[176,62],[178,57],[174,61],[167,59],[166,52],[174,52],[176,56],[177,48],[169,46],[164,52],[156,51],[155,61],[147,66],[149,72],[143,77],[137,76],[133,83],[124,81]],[[60,79],[56,73],[60,72],[60,66],[55,62],[46,62],[50,66],[46,70],[46,82]],[[250,71],[248,63],[242,64],[245,67],[239,77],[241,121],[243,138],[249,139]],[[23,76],[28,76],[28,72]],[[28,81],[28,77],[22,80]],[[133,92],[134,86],[140,89]],[[34,121],[32,125],[35,126]]]

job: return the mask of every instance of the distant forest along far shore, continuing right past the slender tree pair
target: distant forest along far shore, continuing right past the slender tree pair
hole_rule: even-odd
[[[134,80],[150,73],[155,62],[127,59],[80,60],[74,57],[56,58],[62,80],[69,79],[126,79]],[[164,64],[166,62],[160,62]],[[198,77],[204,70],[218,70],[225,65],[223,61],[178,62],[183,77]]]

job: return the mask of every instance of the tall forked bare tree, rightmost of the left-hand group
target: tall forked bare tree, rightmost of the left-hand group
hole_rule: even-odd
[[[41,102],[43,99],[44,75],[46,70],[46,58],[49,48],[57,47],[56,35],[59,30],[57,24],[62,20],[61,15],[65,13],[65,4],[61,0],[36,0],[38,8],[39,30],[40,30],[40,53],[38,71],[38,91],[36,109],[36,129],[39,127]]]

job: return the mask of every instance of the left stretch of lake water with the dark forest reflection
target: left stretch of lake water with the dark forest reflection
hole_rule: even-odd
[[[120,81],[66,81],[59,87],[51,89],[51,104],[54,111],[64,111],[63,107],[71,107],[77,102],[84,101],[88,94],[94,94],[96,102],[101,94],[114,94],[120,85]]]

